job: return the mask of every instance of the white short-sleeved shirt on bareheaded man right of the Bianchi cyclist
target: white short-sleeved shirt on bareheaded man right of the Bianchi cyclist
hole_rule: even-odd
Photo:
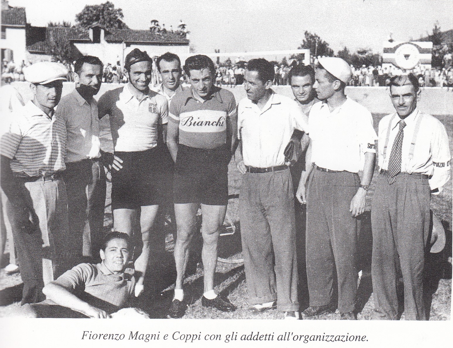
[[[260,110],[250,99],[238,105],[238,137],[244,164],[267,168],[284,165],[284,149],[294,129],[308,132],[302,110],[293,99],[272,93]]]

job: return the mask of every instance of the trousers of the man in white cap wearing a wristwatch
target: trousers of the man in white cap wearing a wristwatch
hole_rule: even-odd
[[[360,221],[349,209],[359,186],[356,173],[313,169],[310,174],[305,255],[310,306],[332,303],[336,272],[338,310],[355,310]]]

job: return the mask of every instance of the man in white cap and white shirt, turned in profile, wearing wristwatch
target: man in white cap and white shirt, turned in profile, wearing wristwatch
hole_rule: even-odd
[[[377,136],[371,113],[345,95],[351,77],[351,67],[341,58],[319,58],[313,87],[321,102],[310,110],[311,159],[296,193],[299,202],[307,203],[310,306],[305,317],[336,308],[340,319],[355,320],[357,315],[357,233],[374,171]],[[335,272],[338,307],[333,303]]]

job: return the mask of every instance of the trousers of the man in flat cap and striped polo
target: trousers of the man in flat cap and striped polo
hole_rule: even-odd
[[[63,243],[68,235],[66,186],[61,179],[14,183],[8,212],[24,282],[22,304],[34,303],[43,300],[44,284],[62,273],[67,260],[60,251],[72,247]]]

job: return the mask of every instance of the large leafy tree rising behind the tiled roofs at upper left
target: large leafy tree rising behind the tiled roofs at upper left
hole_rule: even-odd
[[[88,28],[92,24],[99,24],[110,28],[127,28],[127,25],[122,21],[124,18],[123,10],[116,9],[110,1],[101,5],[86,5],[82,12],[76,14],[76,23],[83,28]]]

